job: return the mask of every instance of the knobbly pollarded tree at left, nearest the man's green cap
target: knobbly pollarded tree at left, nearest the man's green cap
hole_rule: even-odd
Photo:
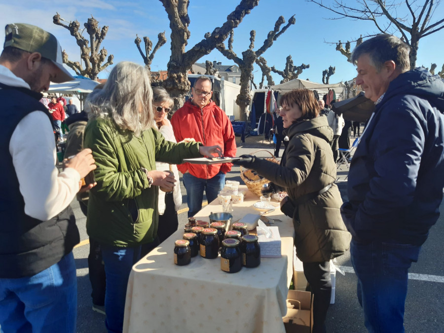
[[[84,27],[86,32],[89,35],[89,40],[82,36],[82,32],[80,31],[80,23],[75,20],[74,22],[70,22],[69,25],[62,23],[65,21],[60,17],[59,13],[53,16],[53,23],[62,26],[69,30],[71,36],[75,37],[77,41],[77,45],[80,47],[80,59],[83,60],[85,64],[85,68],[78,61],[71,61],[68,59],[68,54],[63,50],[62,58],[63,63],[67,64],[68,67],[72,68],[77,75],[82,75],[85,77],[89,77],[92,80],[97,79],[97,75],[107,68],[109,65],[112,65],[112,60],[114,56],[111,54],[108,57],[108,60],[105,64],[101,65],[106,59],[108,55],[108,51],[104,48],[100,49],[102,41],[105,39],[105,36],[108,32],[108,26],[104,26],[103,28],[99,27],[99,22],[91,15],[91,18],[88,19],[87,23],[84,23]],[[91,46],[89,44],[91,43]]]

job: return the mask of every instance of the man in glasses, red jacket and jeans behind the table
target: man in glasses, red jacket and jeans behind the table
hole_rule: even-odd
[[[204,146],[219,145],[224,156],[236,156],[236,141],[233,126],[225,112],[212,100],[211,80],[200,76],[191,90],[192,99],[187,101],[173,115],[171,124],[177,142],[194,139]],[[212,165],[184,163],[178,165],[184,174],[188,217],[194,216],[202,208],[203,191],[208,202],[218,197],[225,184],[225,174],[231,170],[231,163]]]

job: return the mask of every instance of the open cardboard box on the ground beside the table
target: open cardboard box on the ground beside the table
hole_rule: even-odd
[[[287,333],[311,333],[313,327],[313,297],[311,293],[289,290],[287,314],[282,320]]]

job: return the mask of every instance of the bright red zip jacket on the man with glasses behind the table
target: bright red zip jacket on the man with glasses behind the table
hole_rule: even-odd
[[[236,156],[233,126],[231,126],[225,112],[211,100],[202,109],[192,104],[191,101],[187,101],[182,108],[174,113],[171,124],[177,142],[192,138],[204,146],[221,146],[224,156]],[[219,171],[226,174],[231,170],[231,166],[231,163],[212,165],[184,163],[179,164],[177,168],[183,174],[189,171],[197,178],[210,179],[216,176]]]

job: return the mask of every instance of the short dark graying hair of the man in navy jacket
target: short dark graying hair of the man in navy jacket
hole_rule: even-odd
[[[393,60],[396,67],[404,73],[410,70],[409,53],[410,46],[400,38],[384,34],[367,39],[357,46],[351,55],[351,61],[356,64],[359,57],[368,54],[372,65],[378,72],[386,61]]]

